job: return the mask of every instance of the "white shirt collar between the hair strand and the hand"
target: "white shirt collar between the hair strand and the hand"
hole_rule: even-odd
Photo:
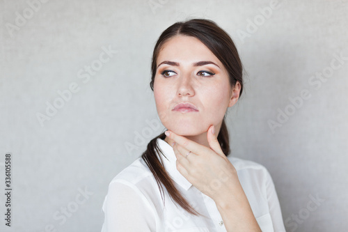
[[[164,153],[164,155],[161,155],[161,160],[163,160],[164,163],[164,169],[168,172],[169,176],[177,183],[180,185],[184,190],[189,190],[191,187],[191,183],[189,183],[189,180],[184,178],[182,174],[177,171],[176,169],[176,156],[174,153],[173,148],[171,145],[167,144],[166,141],[163,139],[157,138],[157,144],[161,151]]]

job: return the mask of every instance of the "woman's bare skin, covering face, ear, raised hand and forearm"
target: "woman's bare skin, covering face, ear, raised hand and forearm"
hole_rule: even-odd
[[[216,138],[227,108],[239,98],[239,82],[230,86],[223,64],[200,40],[190,36],[168,40],[161,47],[157,65],[157,113],[168,129],[165,141],[173,147],[177,170],[215,201],[227,231],[260,231],[237,171]],[[198,111],[173,111],[180,102],[190,102]]]

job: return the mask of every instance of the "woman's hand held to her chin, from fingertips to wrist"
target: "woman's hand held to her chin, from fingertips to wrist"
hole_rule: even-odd
[[[223,154],[213,130],[214,125],[207,131],[210,148],[171,131],[166,135],[175,141],[173,150],[177,157],[177,170],[200,192],[218,203],[234,190],[240,190],[241,186],[237,171]]]

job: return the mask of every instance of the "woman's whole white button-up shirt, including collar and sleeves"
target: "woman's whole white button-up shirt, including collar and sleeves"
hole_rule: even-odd
[[[139,157],[109,184],[102,206],[102,232],[226,232],[215,202],[177,171],[173,148],[162,139],[157,139],[157,144],[168,158],[157,154],[161,155],[175,187],[205,217],[183,210],[171,200],[165,188],[164,204],[155,177]],[[285,231],[278,196],[267,169],[261,164],[236,157],[228,157],[228,160],[237,169],[239,181],[261,230]]]

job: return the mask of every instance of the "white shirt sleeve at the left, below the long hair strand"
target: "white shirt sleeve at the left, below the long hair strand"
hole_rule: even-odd
[[[112,181],[103,203],[102,232],[156,231],[155,212],[130,183]]]

